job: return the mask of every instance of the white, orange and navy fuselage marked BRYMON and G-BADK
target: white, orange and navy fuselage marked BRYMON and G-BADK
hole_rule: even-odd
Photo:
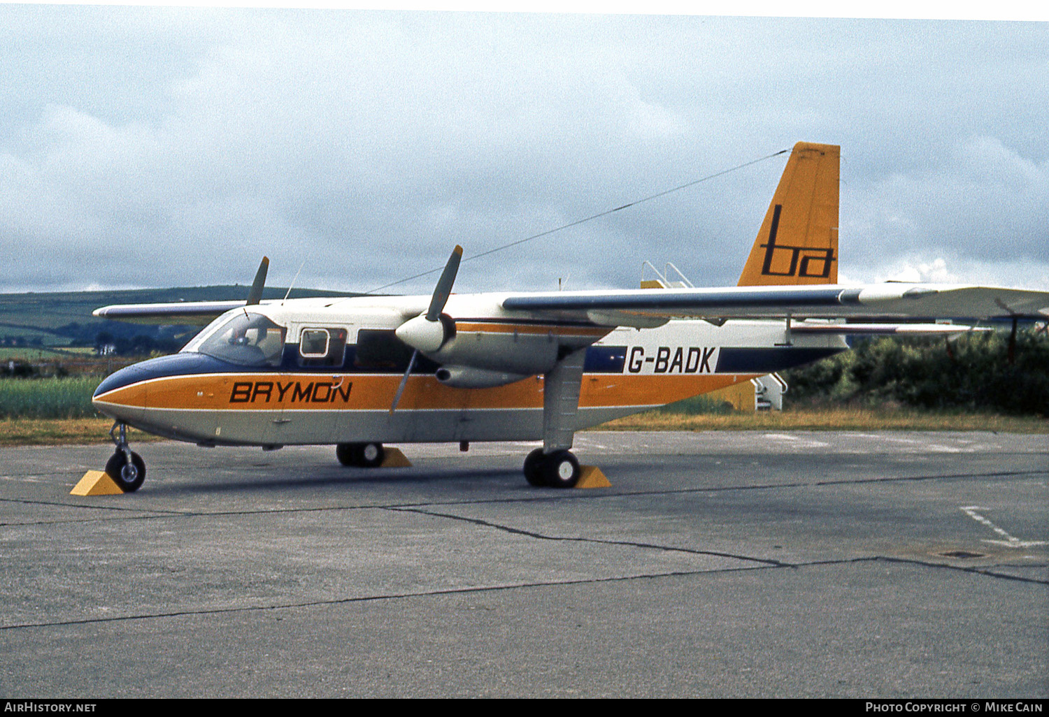
[[[298,300],[234,309],[178,354],[108,377],[94,405],[150,433],[205,444],[532,440],[542,436],[543,374],[573,351],[586,352],[572,418],[578,430],[848,348],[838,335],[788,341],[783,321],[609,328],[514,316],[499,308],[498,295],[453,295],[453,338],[418,362],[391,413],[410,354],[392,331],[425,302]],[[247,330],[238,333],[235,320]],[[465,387],[471,379],[483,387]]]

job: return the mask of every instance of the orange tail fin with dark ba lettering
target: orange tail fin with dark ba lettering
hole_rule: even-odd
[[[794,145],[740,286],[838,282],[841,148]]]

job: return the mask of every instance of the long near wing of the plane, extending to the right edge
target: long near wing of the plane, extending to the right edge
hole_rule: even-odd
[[[1049,291],[965,284],[732,286],[549,291],[506,296],[502,307],[603,326],[698,319],[1049,319]]]

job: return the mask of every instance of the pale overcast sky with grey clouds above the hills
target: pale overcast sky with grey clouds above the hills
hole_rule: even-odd
[[[368,290],[841,145],[842,281],[1049,288],[1049,23],[0,5],[0,291]],[[464,263],[734,284],[785,156]],[[429,292],[435,275],[389,290]]]

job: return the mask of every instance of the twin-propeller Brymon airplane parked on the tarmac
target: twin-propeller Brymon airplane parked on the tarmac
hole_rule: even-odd
[[[584,428],[848,350],[845,335],[969,328],[903,320],[1049,317],[1047,291],[838,284],[839,156],[794,146],[736,286],[452,294],[456,246],[430,296],[262,301],[263,258],[245,301],[99,308],[207,324],[99,385],[116,446],[106,473],[142,485],[132,426],[205,447],[334,444],[359,468],[380,465],[385,443],[541,439],[528,482],[571,487]]]

